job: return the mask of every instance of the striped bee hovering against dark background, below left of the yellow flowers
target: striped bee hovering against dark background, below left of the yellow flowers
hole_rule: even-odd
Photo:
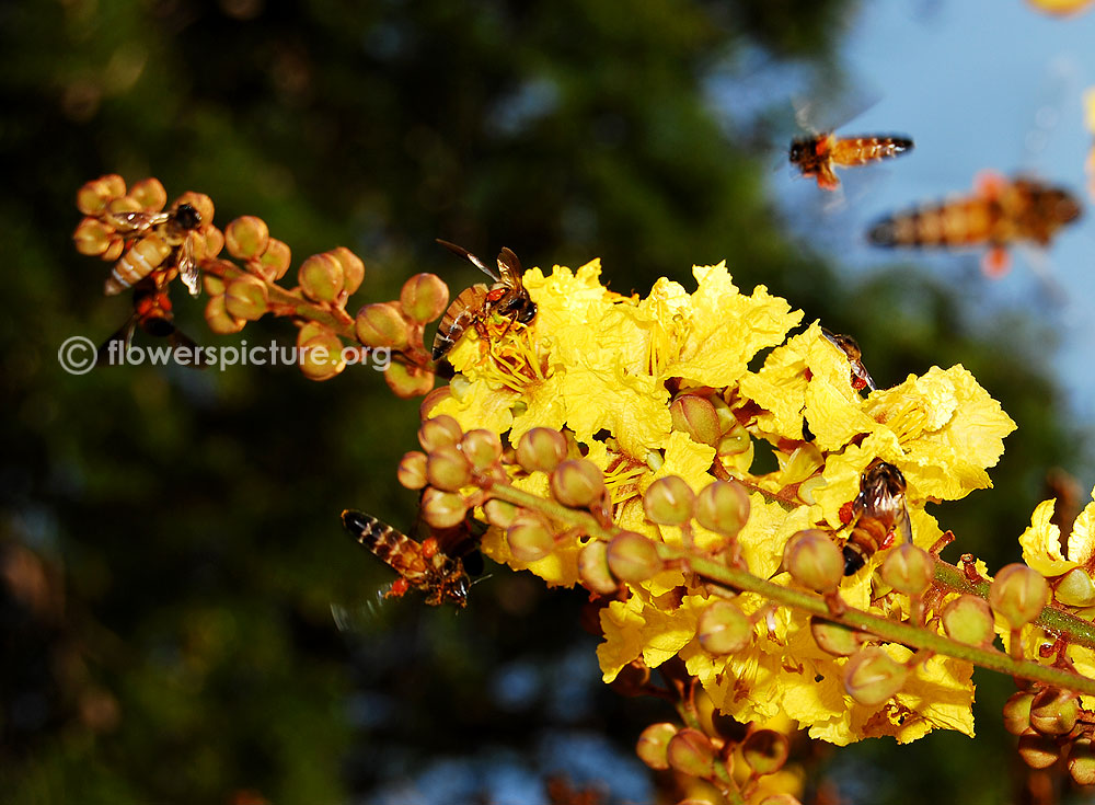
[[[418,542],[372,515],[354,509],[343,511],[342,519],[354,539],[400,574],[387,597],[400,598],[414,588],[426,594],[426,603],[431,607],[448,602],[461,609],[468,606],[471,577],[459,556],[442,550],[437,536]]]

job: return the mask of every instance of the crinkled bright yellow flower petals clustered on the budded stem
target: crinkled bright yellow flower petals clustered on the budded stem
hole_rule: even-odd
[[[537,426],[573,433],[585,458],[606,474],[616,526],[703,555],[722,555],[724,538],[698,526],[685,537],[680,528],[650,522],[642,494],[667,475],[695,491],[718,475],[733,476],[751,490],[740,555],[751,574],[783,585],[792,584],[782,570],[788,538],[806,528],[846,537],[861,475],[876,458],[904,474],[921,548],[941,537],[925,504],[991,486],[986,470],[1015,425],[961,366],[933,367],[862,396],[849,356],[817,322],[788,337],[803,312],[764,287],[742,294],[725,264],[694,267],[692,292],[661,279],[645,299],[608,290],[599,273],[598,262],[576,273],[558,266],[548,276],[528,272],[537,320],[528,329],[499,322],[491,338],[469,331],[450,354],[458,375],[430,415],[449,414],[465,429],[508,432],[514,445]],[[744,429],[750,446],[771,447],[780,469],[753,474],[751,449],[725,455],[675,427],[670,404],[683,392],[715,401],[718,415]],[[515,484],[549,496],[543,473]],[[498,529],[484,540],[493,559],[567,586],[578,582],[580,547],[578,539],[564,541],[551,555],[522,563],[509,555]],[[846,578],[840,596],[892,616],[907,605],[873,587],[877,563]],[[638,658],[655,667],[679,656],[714,702],[740,721],[783,713],[835,744],[875,735],[909,741],[935,727],[972,734],[968,663],[929,659],[887,702],[856,704],[841,682],[846,658],[817,646],[806,616],[758,596],[737,598],[756,616],[751,645],[726,656],[706,653],[696,624],[708,595],[680,566],[627,585],[627,595],[602,610],[598,656],[606,681]],[[898,662],[910,656],[894,644],[885,651]]]

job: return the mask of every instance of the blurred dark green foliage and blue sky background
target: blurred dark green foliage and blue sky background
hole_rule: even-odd
[[[1091,421],[1076,401],[1093,373],[1061,358],[1083,335],[1045,278],[1019,257],[990,287],[976,255],[872,253],[862,227],[968,188],[982,168],[1040,169],[1081,192],[1092,20],[1019,0],[972,16],[906,7],[4,3],[0,800],[538,805],[551,777],[603,802],[658,796],[632,747],[670,713],[601,686],[584,596],[493,567],[459,616],[377,606],[390,573],[338,513],[413,518],[394,468],[417,406],[379,373],[60,369],[61,342],[97,343],[129,312],[101,294],[108,266],[71,246],[76,189],[103,173],[207,193],[221,227],[261,216],[295,265],[350,248],[367,266],[361,303],[419,271],[474,281],[437,237],[486,257],[509,245],[527,266],[599,256],[621,292],[662,275],[688,285],[693,263],[726,258],[741,287],[854,334],[881,384],[961,363],[1018,423],[996,488],[937,508],[960,540],[945,556],[1015,560],[1053,468],[1085,498]],[[1036,47],[1050,56],[1023,62],[1019,85],[1011,68]],[[1069,48],[1062,90],[1050,57]],[[854,127],[907,131],[918,152],[848,176],[831,204],[772,169],[795,95],[838,117],[866,108]],[[1012,104],[1010,122],[970,99]],[[1059,131],[1037,115],[1047,105]],[[1026,154],[1037,126],[1065,139],[1056,161]],[[1067,289],[1090,288],[1087,227],[1045,255]],[[1070,296],[1090,307],[1086,294]],[[233,343],[205,330],[200,301],[176,311],[200,343]],[[239,337],[288,345],[293,332],[263,321]],[[805,752],[804,802],[1016,798],[999,726],[1011,681],[977,681],[977,740]]]

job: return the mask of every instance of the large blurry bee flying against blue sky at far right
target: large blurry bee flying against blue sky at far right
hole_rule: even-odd
[[[1069,191],[1035,179],[1007,180],[986,173],[972,195],[883,218],[867,233],[878,246],[960,249],[989,246],[982,266],[989,275],[1007,268],[1006,249],[1021,242],[1048,246],[1057,231],[1080,217]]]

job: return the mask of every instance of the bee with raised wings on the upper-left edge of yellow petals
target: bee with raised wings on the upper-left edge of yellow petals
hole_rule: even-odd
[[[468,327],[480,329],[487,319],[506,319],[507,332],[514,322],[529,324],[535,319],[537,303],[525,290],[525,284],[521,281],[525,272],[512,251],[503,248],[498,254],[498,273],[495,274],[466,249],[440,239],[437,242],[491,277],[494,285],[488,288],[485,284],[477,283],[471,288],[465,288],[445,311],[437,327],[437,335],[434,336],[435,361],[448,354]]]

